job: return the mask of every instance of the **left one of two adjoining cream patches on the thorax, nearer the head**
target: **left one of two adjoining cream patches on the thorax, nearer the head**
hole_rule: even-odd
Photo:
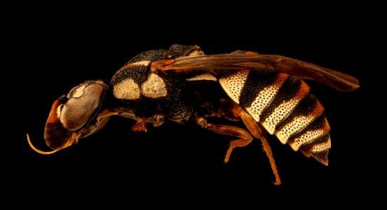
[[[138,99],[140,98],[140,86],[133,78],[127,78],[114,85],[113,95],[117,99]]]

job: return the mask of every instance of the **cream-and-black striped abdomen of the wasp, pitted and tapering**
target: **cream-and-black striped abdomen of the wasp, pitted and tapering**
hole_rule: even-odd
[[[233,71],[219,78],[224,91],[269,134],[294,151],[328,164],[330,125],[306,83],[274,71]]]

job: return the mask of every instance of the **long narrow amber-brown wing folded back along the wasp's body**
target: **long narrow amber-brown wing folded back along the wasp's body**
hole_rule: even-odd
[[[198,55],[163,59],[151,64],[151,71],[174,73],[242,69],[279,71],[302,79],[315,80],[341,91],[352,91],[360,87],[358,79],[346,73],[282,55],[255,53]]]

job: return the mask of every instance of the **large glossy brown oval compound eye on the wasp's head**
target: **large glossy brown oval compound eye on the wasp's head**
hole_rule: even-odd
[[[75,132],[83,128],[102,104],[104,84],[100,81],[86,81],[67,94],[67,102],[58,106],[57,115],[67,130]]]

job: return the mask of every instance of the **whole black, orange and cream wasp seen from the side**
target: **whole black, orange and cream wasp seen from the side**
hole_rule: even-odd
[[[234,148],[262,141],[280,184],[267,134],[293,151],[328,165],[330,125],[324,108],[304,80],[315,80],[340,91],[360,87],[358,79],[339,71],[281,55],[236,50],[205,55],[198,45],[171,45],[133,57],[116,71],[109,85],[86,80],[60,96],[50,110],[44,139],[53,151],[76,144],[106,125],[111,116],[135,121],[133,132],[147,132],[166,122],[189,121],[218,134],[234,137]],[[224,124],[213,123],[223,118]],[[231,125],[231,122],[241,122]]]

